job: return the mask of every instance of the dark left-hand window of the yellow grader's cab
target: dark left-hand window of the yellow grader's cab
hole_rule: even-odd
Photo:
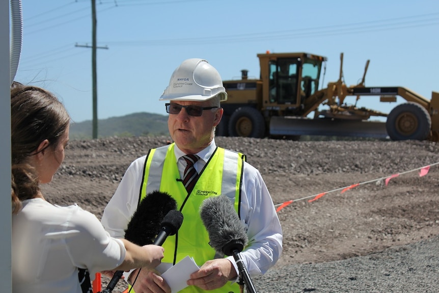
[[[297,59],[278,59],[269,64],[270,102],[297,103]]]

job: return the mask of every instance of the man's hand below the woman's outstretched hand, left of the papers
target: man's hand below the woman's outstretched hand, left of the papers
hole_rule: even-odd
[[[134,282],[139,269],[133,271],[129,276],[130,284]],[[168,283],[155,272],[146,268],[140,270],[139,277],[132,286],[135,293],[171,293]]]

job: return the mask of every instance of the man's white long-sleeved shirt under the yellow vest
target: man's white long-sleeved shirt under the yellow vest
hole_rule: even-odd
[[[213,140],[207,148],[197,153],[200,159],[194,166],[198,172],[206,165],[215,148]],[[182,178],[185,163],[180,157],[185,153],[178,149],[177,145],[174,149]],[[124,230],[138,206],[145,159],[146,156],[142,156],[130,164],[114,196],[104,209],[101,223],[114,237],[124,237]],[[250,275],[262,275],[281,256],[282,227],[260,172],[246,162],[242,176],[240,217],[251,244],[240,253],[241,258]],[[237,270],[233,256],[228,258]]]

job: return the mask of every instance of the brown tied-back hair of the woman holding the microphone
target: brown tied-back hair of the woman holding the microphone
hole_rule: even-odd
[[[48,140],[56,147],[70,124],[64,105],[52,93],[14,82],[11,86],[12,211],[39,194],[39,179],[29,157]]]

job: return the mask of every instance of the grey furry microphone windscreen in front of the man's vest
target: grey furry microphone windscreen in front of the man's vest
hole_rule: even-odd
[[[205,199],[200,207],[200,216],[214,250],[232,255],[233,250],[241,251],[247,245],[249,238],[245,227],[227,196]]]

